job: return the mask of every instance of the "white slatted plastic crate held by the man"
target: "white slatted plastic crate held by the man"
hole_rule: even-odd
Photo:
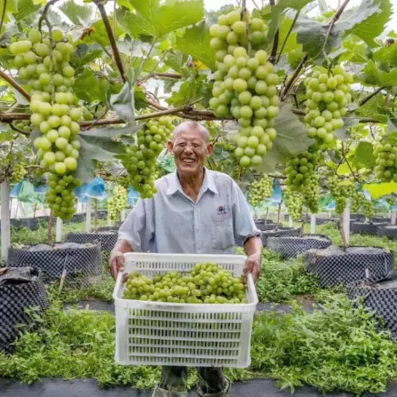
[[[126,254],[125,271],[152,278],[182,273],[199,263],[216,263],[242,274],[242,255]],[[246,368],[258,297],[252,274],[244,304],[185,304],[123,299],[119,273],[113,292],[118,364]]]

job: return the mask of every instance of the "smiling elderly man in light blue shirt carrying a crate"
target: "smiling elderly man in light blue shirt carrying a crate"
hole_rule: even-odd
[[[212,154],[208,131],[187,121],[174,131],[168,150],[177,170],[156,182],[157,193],[139,200],[119,231],[110,256],[116,278],[127,252],[233,254],[235,244],[248,256],[244,272],[256,280],[261,270],[262,241],[237,184],[226,174],[204,167]],[[220,368],[199,368],[200,397],[231,395]],[[163,367],[153,397],[186,397],[187,368]]]

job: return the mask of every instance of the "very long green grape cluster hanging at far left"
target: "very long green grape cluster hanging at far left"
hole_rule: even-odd
[[[9,50],[15,55],[19,79],[31,90],[30,122],[41,133],[33,145],[40,166],[50,172],[47,201],[55,216],[71,219],[73,189],[79,185],[71,173],[77,168],[81,116],[69,64],[73,46],[60,30],[53,30],[50,38],[32,29],[27,39],[12,43]]]

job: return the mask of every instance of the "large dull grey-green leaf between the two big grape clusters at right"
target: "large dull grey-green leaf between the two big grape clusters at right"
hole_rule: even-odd
[[[266,153],[262,165],[256,168],[266,173],[274,171],[277,162],[296,156],[314,143],[313,139],[308,137],[304,124],[292,113],[289,104],[281,106],[280,114],[275,118],[274,129],[277,136],[273,141],[273,147]]]

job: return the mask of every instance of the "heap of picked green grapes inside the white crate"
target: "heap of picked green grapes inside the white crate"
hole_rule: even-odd
[[[171,271],[153,279],[130,273],[123,297],[172,303],[246,303],[246,287],[229,270],[214,263],[196,265],[185,275]]]

